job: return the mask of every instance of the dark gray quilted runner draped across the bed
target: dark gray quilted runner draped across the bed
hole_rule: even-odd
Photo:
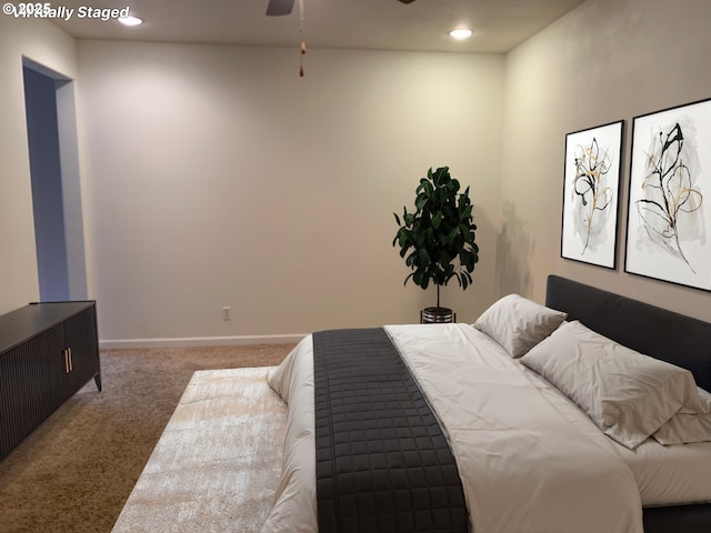
[[[313,334],[319,533],[468,531],[454,457],[383,329]]]

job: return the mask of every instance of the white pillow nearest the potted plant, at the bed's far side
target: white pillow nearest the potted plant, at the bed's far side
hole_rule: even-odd
[[[520,358],[550,335],[565,316],[567,313],[519,294],[509,294],[487,309],[473,325],[501,344],[509,355]]]

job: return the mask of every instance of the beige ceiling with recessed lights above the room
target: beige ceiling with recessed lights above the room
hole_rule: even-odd
[[[94,0],[93,8],[130,7],[143,24],[78,18],[54,23],[79,39],[126,39],[241,46],[503,53],[584,0],[296,0],[286,17],[267,17],[268,0]],[[67,8],[87,6],[64,0]],[[449,30],[470,27],[467,41]]]

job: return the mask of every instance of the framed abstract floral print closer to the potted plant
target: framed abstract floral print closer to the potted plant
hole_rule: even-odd
[[[611,122],[565,135],[561,257],[617,265],[622,129]]]

